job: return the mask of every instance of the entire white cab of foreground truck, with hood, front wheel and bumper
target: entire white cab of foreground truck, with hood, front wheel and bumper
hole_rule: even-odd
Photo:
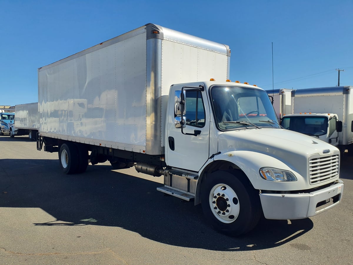
[[[282,129],[263,89],[210,81],[173,85],[169,95],[171,169],[158,190],[195,197],[218,231],[242,234],[261,212],[267,219],[314,216],[341,200],[339,149]]]

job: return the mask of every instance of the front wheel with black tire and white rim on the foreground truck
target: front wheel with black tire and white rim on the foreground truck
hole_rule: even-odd
[[[261,217],[259,193],[243,172],[215,171],[203,183],[202,210],[213,228],[238,236],[253,229]]]

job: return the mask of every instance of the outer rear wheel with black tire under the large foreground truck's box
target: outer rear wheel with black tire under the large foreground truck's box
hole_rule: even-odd
[[[59,151],[59,163],[65,174],[77,173],[79,166],[77,146],[73,143],[62,144]]]

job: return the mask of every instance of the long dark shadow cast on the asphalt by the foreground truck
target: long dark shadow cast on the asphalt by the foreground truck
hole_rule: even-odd
[[[313,228],[307,218],[261,220],[250,233],[229,237],[203,220],[201,206],[156,190],[162,184],[88,166],[64,175],[58,160],[2,159],[0,207],[42,208],[55,220],[37,226],[101,225],[127,229],[168,245],[213,251],[250,251],[281,246]]]

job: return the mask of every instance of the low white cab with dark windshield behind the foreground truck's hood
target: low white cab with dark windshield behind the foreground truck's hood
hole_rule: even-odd
[[[333,146],[339,145],[339,132],[342,131],[342,122],[338,120],[337,114],[330,113],[289,114],[282,118],[281,126]]]

